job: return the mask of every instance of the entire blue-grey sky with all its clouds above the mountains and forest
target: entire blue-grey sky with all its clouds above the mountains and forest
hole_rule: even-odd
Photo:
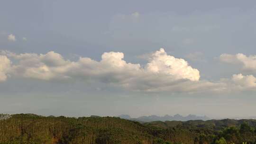
[[[255,0],[2,0],[0,113],[255,116]]]

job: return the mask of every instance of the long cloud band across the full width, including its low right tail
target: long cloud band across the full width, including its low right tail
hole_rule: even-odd
[[[80,57],[78,61],[64,59],[53,51],[47,54],[14,54],[2,51],[0,56],[0,80],[7,74],[13,78],[31,78],[44,81],[79,80],[102,82],[128,90],[205,92],[226,91],[231,87],[240,90],[256,88],[255,77],[242,74],[217,82],[200,80],[200,72],[184,59],[168,55],[163,48],[148,55],[148,63],[141,66],[124,61],[124,54],[109,52],[101,55],[101,61]],[[11,64],[11,61],[13,63]]]

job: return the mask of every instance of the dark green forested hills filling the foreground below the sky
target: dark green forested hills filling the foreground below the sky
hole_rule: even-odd
[[[256,144],[256,120],[141,124],[119,117],[0,117],[0,144]]]

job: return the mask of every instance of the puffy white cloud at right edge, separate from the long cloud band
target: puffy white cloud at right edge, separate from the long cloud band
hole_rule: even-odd
[[[256,55],[246,56],[245,54],[221,54],[220,61],[225,63],[242,64],[246,70],[256,72]]]

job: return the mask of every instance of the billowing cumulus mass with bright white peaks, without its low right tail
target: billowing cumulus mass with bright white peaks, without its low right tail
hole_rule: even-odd
[[[133,90],[158,90],[178,81],[199,81],[200,72],[185,60],[166,54],[161,48],[148,57],[148,63],[127,63],[124,54],[109,52],[101,61],[80,57],[76,62],[65,60],[61,54],[14,54],[2,51],[17,63],[9,72],[13,76],[39,80],[78,79],[100,81]]]

